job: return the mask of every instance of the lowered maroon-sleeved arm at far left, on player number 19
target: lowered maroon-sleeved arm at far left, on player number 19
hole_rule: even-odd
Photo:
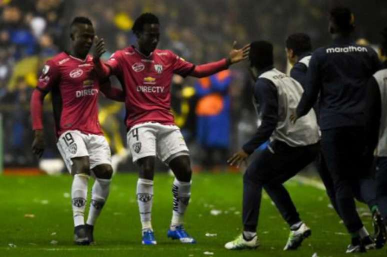
[[[53,84],[56,83],[57,73],[54,65],[49,61],[44,65],[39,83],[33,90],[30,101],[30,112],[32,119],[32,129],[34,130],[34,139],[32,142],[32,153],[38,158],[41,157],[44,151],[43,138],[43,101],[44,96],[51,90]]]

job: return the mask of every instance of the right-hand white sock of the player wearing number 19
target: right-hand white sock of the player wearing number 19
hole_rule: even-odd
[[[98,218],[109,195],[110,181],[111,179],[95,179],[91,190],[90,210],[88,211],[86,224],[94,226],[95,220]]]

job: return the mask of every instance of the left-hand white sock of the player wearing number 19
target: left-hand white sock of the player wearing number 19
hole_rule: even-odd
[[[86,174],[75,174],[72,180],[71,202],[74,227],[84,225],[88,178],[89,176]]]

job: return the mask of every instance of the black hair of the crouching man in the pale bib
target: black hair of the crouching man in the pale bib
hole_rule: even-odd
[[[248,54],[251,66],[258,69],[273,65],[273,45],[267,41],[253,41]]]

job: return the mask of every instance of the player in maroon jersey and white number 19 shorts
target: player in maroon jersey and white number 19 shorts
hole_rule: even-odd
[[[31,97],[34,130],[32,151],[38,157],[44,150],[42,107],[44,96],[51,92],[57,147],[68,171],[73,176],[71,187],[74,220],[74,242],[93,242],[93,227],[109,194],[112,169],[110,148],[98,122],[97,99],[105,96],[124,101],[121,90],[108,82],[100,84],[88,55],[95,33],[86,17],[75,17],[70,25],[71,50],[61,52],[44,65],[39,83]],[[94,58],[104,52],[104,42],[96,39]],[[90,172],[91,170],[91,172]],[[84,209],[89,176],[95,177],[86,224]]]

